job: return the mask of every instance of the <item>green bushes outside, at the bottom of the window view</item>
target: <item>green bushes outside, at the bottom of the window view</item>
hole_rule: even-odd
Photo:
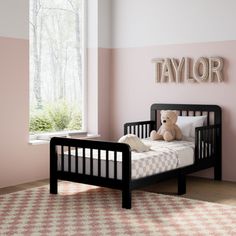
[[[34,110],[30,115],[30,134],[63,130],[81,130],[81,112],[65,101],[59,101]]]

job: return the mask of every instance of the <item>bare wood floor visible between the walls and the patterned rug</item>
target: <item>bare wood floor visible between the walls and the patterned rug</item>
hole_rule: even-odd
[[[48,184],[41,180],[27,184],[0,189],[1,194],[7,194]],[[143,188],[145,191],[175,195],[177,181],[168,180]],[[214,181],[209,179],[187,177],[187,193],[183,197],[209,202],[217,202],[236,206],[236,182]]]

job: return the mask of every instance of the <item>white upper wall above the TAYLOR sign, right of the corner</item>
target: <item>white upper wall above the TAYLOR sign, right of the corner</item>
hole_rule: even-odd
[[[236,39],[235,0],[111,0],[112,47]]]

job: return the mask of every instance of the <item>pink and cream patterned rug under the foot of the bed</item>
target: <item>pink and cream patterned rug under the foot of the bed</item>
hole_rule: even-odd
[[[236,235],[236,207],[143,191],[60,182],[0,196],[0,235]]]

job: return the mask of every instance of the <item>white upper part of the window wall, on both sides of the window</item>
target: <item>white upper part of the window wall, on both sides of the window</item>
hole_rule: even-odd
[[[0,37],[29,39],[29,1],[0,0]],[[85,0],[88,47],[111,46],[111,0]]]

